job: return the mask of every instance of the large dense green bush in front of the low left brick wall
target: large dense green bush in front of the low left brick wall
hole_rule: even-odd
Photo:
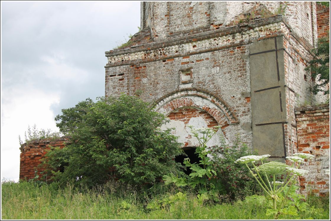
[[[56,119],[74,141],[51,148],[43,161],[60,186],[72,180],[75,186],[93,187],[114,179],[142,186],[169,172],[181,173],[172,160],[182,153],[180,143],[170,130],[160,129],[166,117],[137,97],[101,97],[96,103],[87,99]]]

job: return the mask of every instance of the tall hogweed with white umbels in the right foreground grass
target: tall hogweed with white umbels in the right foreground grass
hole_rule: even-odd
[[[295,211],[295,207],[299,208],[300,206],[290,205],[285,209],[282,209],[281,207],[284,205],[284,201],[287,199],[289,194],[295,194],[293,189],[296,189],[294,185],[297,183],[298,176],[303,176],[308,173],[306,170],[299,169],[300,164],[304,162],[305,159],[312,159],[314,156],[307,153],[295,153],[294,156],[286,157],[287,160],[292,162],[291,166],[275,161],[268,163],[263,162],[269,157],[269,154],[262,156],[244,156],[237,159],[235,163],[246,165],[250,173],[263,189],[267,199],[272,201],[273,209],[269,209],[267,211],[268,214],[275,214],[275,218],[277,218],[280,213],[296,215],[297,213]],[[260,161],[260,166],[257,165],[258,161]],[[251,168],[249,165],[253,167]],[[284,181],[276,181],[276,177],[278,175],[284,174],[287,175]],[[278,210],[277,202],[280,202],[278,204]]]

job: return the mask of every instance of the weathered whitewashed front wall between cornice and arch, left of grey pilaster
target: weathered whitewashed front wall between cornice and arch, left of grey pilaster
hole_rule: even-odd
[[[243,139],[251,143],[248,61],[248,47],[241,45],[199,54],[182,54],[137,65],[109,67],[107,73],[111,74],[106,76],[106,95],[118,95],[121,92],[133,95],[139,90],[144,92],[140,95],[142,99],[155,102],[176,90],[184,93],[190,91],[190,88],[203,88],[207,93],[189,92],[186,96],[198,97],[202,101],[203,105],[197,104],[197,108],[214,108],[218,111],[220,125],[227,121],[225,124],[238,127],[240,132],[232,130],[228,134],[230,140],[239,132]],[[118,76],[120,73],[124,75]],[[223,85],[228,86],[224,88]],[[211,93],[217,94],[219,99],[213,99]],[[173,94],[169,96],[169,101],[174,100]],[[215,105],[214,100],[219,100],[219,105]],[[162,110],[167,103],[163,105]],[[181,107],[192,107],[192,104],[183,104]],[[224,120],[223,115],[227,116]],[[235,118],[240,118],[240,125],[236,125],[238,120]]]

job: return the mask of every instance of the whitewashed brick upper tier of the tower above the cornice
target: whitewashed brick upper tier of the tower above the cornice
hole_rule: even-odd
[[[260,5],[273,14],[283,13],[293,30],[312,45],[315,2],[143,2],[141,26],[149,24],[154,41],[162,42],[231,26],[239,15],[247,16]]]

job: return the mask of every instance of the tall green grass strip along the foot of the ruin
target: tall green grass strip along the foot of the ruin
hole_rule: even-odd
[[[51,185],[38,186],[32,182],[2,183],[2,219],[273,219],[265,215],[265,207],[243,202],[197,204],[196,196],[171,207],[147,209],[149,202],[163,199],[178,190],[165,189],[141,200],[139,191],[129,186],[107,184],[93,190],[80,191],[68,185],[55,189]],[[329,199],[309,197],[307,202],[324,212],[301,212],[299,217],[281,219],[328,219]]]

